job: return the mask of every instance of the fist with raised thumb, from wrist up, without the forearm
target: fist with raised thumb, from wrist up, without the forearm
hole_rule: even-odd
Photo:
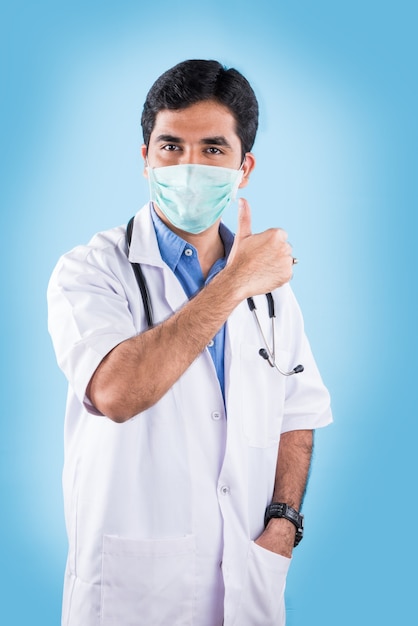
[[[242,297],[264,294],[281,287],[292,278],[292,248],[281,228],[253,235],[251,210],[244,198],[238,204],[238,228],[227,268],[235,273]]]

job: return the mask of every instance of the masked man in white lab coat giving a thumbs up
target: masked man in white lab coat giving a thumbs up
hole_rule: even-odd
[[[236,70],[168,70],[144,105],[152,202],[129,252],[126,227],[99,233],[51,278],[69,381],[65,626],[285,622],[313,430],[331,413],[286,233],[252,234],[244,199],[235,238],[220,221],[254,169],[257,124]]]

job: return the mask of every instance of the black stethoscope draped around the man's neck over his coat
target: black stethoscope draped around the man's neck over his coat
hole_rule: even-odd
[[[128,255],[129,255],[129,249],[130,249],[131,240],[132,240],[132,230],[134,226],[134,219],[135,217],[132,217],[129,220],[128,225],[126,227],[126,243],[128,246]],[[131,265],[132,265],[133,272],[135,274],[136,282],[138,283],[139,291],[140,291],[141,298],[142,298],[142,303],[144,305],[145,318],[147,320],[148,328],[152,328],[154,326],[154,315],[152,312],[152,304],[151,304],[151,299],[150,299],[150,295],[148,291],[147,281],[145,280],[145,276],[142,272],[140,264],[131,262]],[[275,341],[276,337],[275,337],[275,322],[274,322],[276,318],[276,314],[275,314],[275,308],[274,308],[274,299],[270,292],[266,293],[266,299],[267,299],[269,318],[271,320],[271,336],[272,336],[272,348],[271,349],[268,345],[266,336],[264,334],[263,328],[258,318],[257,307],[255,305],[254,299],[247,298],[248,308],[250,309],[251,313],[254,315],[255,322],[257,324],[258,330],[260,331],[260,335],[265,346],[264,348],[260,348],[260,350],[258,351],[258,354],[267,361],[270,367],[275,367],[283,376],[292,376],[293,374],[299,374],[300,372],[303,372],[304,370],[303,365],[296,365],[296,367],[294,367],[292,370],[290,370],[289,372],[286,372],[282,370],[276,363],[276,341]]]

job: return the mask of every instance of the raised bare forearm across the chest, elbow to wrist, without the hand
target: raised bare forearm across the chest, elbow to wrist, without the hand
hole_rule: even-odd
[[[116,422],[150,408],[202,352],[239,301],[233,276],[216,277],[165,322],[109,352],[87,389],[91,402]]]

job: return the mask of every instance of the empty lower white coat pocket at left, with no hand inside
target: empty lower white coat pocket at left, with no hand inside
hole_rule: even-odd
[[[195,587],[193,536],[103,540],[101,626],[190,626]]]

